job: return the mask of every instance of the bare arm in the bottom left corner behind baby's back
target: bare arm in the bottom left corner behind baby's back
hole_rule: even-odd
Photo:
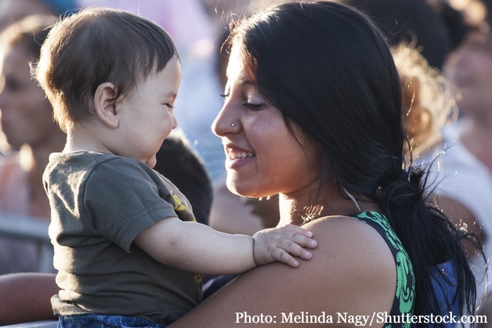
[[[0,325],[56,319],[50,299],[58,290],[55,274],[0,276]]]

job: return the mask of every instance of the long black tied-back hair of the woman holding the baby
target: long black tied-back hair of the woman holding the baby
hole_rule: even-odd
[[[475,279],[460,246],[468,235],[429,206],[425,171],[405,167],[399,76],[373,23],[338,3],[283,4],[237,24],[229,45],[240,47],[288,126],[295,121],[320,142],[321,181],[371,199],[388,218],[413,264],[414,314],[444,310],[432,276],[446,261],[460,309],[474,313]]]

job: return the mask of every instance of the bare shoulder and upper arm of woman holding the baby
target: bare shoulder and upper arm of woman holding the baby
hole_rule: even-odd
[[[278,263],[251,270],[171,327],[230,328],[248,325],[248,320],[256,320],[255,327],[272,327],[274,321],[282,327],[299,327],[306,325],[296,322],[296,316],[305,321],[308,314],[331,317],[336,326],[354,326],[341,322],[338,315],[389,313],[396,265],[381,236],[351,218],[319,219],[307,228],[318,240],[309,262],[295,270]]]

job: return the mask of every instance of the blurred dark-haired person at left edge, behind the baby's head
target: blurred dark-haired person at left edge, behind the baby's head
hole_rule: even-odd
[[[65,134],[54,123],[43,90],[31,79],[29,63],[38,58],[47,26],[55,19],[28,16],[0,36],[0,125],[13,149],[0,157],[0,211],[45,222],[50,206],[42,175],[49,155],[63,149]],[[9,237],[0,243],[1,274],[38,271],[38,244]]]

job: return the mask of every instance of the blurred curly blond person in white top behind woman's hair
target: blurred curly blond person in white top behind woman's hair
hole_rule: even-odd
[[[463,146],[450,139],[445,131],[457,118],[456,88],[442,73],[428,65],[422,54],[413,47],[399,45],[393,48],[403,92],[403,122],[408,138],[408,160],[414,167],[430,166],[428,176],[432,194],[427,201],[441,209],[455,226],[477,235],[485,244],[484,253],[490,257],[491,245],[486,238],[492,236],[492,183],[488,174],[463,156]],[[411,156],[411,157],[410,157]],[[478,301],[485,294],[486,265],[482,255],[472,251],[468,241],[463,247],[468,251],[478,286]]]

